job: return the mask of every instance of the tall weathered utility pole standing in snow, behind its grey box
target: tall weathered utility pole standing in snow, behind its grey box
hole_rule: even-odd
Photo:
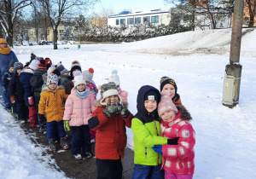
[[[241,27],[243,21],[243,9],[244,0],[236,0],[234,4],[233,26],[230,43],[230,64],[227,65],[225,68],[225,76],[235,77],[234,90],[231,90],[233,91],[233,104],[228,104],[223,101],[223,105],[230,108],[236,107],[239,102],[241,83],[241,65],[239,64],[239,60],[241,50]]]

